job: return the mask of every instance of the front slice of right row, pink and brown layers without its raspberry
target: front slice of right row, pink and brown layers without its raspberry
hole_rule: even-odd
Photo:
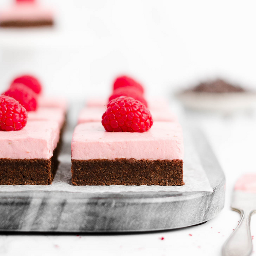
[[[177,122],[145,133],[108,132],[100,122],[73,133],[74,185],[183,185],[183,135]]]

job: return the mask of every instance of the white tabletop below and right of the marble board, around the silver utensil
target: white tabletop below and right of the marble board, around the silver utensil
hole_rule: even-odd
[[[256,119],[239,115],[204,116],[195,120],[202,124],[226,175],[226,203],[218,216],[199,226],[154,233],[1,233],[0,255],[221,255],[224,241],[239,221],[239,214],[230,210],[234,183],[243,173],[256,171],[253,152]],[[256,236],[254,218],[251,226],[252,236]]]

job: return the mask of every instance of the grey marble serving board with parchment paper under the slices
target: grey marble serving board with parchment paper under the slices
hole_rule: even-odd
[[[73,186],[64,133],[52,185],[0,186],[0,230],[133,232],[203,223],[224,207],[224,174],[204,134],[184,131],[184,186]]]

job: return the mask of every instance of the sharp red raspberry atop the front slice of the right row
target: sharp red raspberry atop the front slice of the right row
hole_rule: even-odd
[[[108,103],[102,125],[106,131],[144,132],[151,128],[153,119],[141,102],[121,96]]]

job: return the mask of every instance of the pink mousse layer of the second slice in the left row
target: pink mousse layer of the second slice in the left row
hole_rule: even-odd
[[[38,108],[37,111],[29,111],[29,122],[31,120],[49,120],[58,122],[61,129],[64,121],[65,114],[61,108]]]

